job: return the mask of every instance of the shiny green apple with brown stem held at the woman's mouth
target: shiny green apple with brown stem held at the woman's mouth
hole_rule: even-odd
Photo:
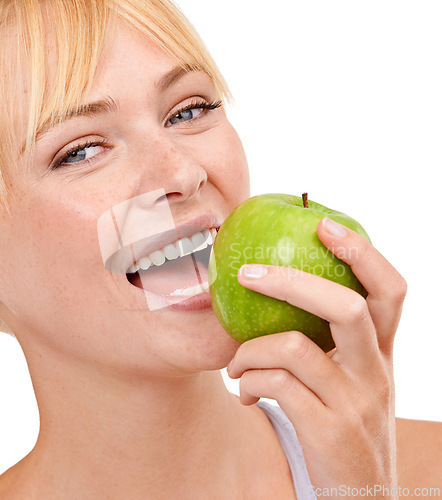
[[[271,333],[297,330],[324,351],[334,347],[329,323],[318,316],[243,287],[243,264],[288,266],[367,292],[350,266],[328,250],[316,233],[324,217],[358,232],[365,230],[342,212],[289,194],[263,194],[241,203],[216,236],[209,260],[212,307],[226,332],[238,342]]]

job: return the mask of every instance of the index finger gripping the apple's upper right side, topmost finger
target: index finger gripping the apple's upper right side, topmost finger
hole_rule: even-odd
[[[318,236],[336,257],[350,265],[368,292],[367,304],[379,347],[391,353],[407,284],[388,260],[363,236],[331,219],[322,219]]]

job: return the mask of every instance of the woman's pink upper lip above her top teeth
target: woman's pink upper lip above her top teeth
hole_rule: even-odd
[[[147,240],[141,240],[140,242],[133,242],[130,245],[131,259],[125,263],[126,273],[127,270],[142,257],[147,257],[152,252],[174,243],[181,238],[187,238],[189,236],[193,236],[195,233],[214,227],[218,229],[222,222],[222,219],[215,214],[199,215],[193,219],[182,222],[174,229],[165,231],[160,235],[147,238]]]

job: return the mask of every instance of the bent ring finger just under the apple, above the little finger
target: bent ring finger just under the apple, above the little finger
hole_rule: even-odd
[[[260,368],[286,370],[331,408],[345,400],[346,373],[300,332],[264,335],[241,344],[227,371],[229,377],[239,378]]]

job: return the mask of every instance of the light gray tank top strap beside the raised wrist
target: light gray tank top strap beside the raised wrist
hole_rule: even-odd
[[[275,429],[292,472],[297,500],[315,500],[316,495],[307,472],[304,453],[292,423],[279,406],[261,400],[256,405],[267,415]]]

